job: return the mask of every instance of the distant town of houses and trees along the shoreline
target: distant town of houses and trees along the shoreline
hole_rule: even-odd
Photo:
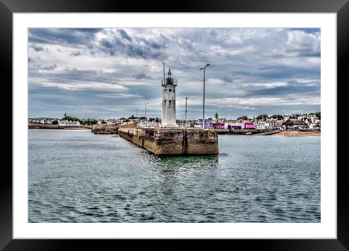
[[[28,124],[45,124],[59,126],[81,126],[98,124],[118,124],[125,125],[137,123],[138,127],[158,127],[161,124],[159,118],[136,117],[131,115],[128,118],[114,119],[80,119],[68,116],[66,113],[61,119],[58,118],[29,118]],[[176,124],[182,128],[202,128],[201,119],[176,120]],[[205,128],[213,129],[275,129],[275,130],[320,130],[321,112],[312,112],[305,114],[260,114],[258,116],[241,116],[233,119],[220,118],[215,112],[213,118],[205,119]]]

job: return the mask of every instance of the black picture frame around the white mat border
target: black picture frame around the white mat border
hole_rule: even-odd
[[[109,0],[0,0],[0,55],[2,77],[12,83],[12,14],[31,12],[269,12],[269,13],[337,13],[337,85],[348,81],[349,71],[346,69],[349,56],[349,2],[348,0],[208,0],[208,1],[109,1]],[[336,85],[336,86],[335,86]],[[12,89],[8,92],[12,93]],[[338,91],[337,91],[338,93]],[[339,99],[338,99],[339,100]],[[7,108],[8,110],[8,108]],[[11,116],[12,117],[12,116]],[[333,116],[336,118],[337,116]],[[12,121],[14,118],[12,118]],[[337,125],[335,125],[337,126]],[[337,126],[338,128],[338,126]],[[13,132],[16,133],[16,132]],[[13,135],[12,135],[13,137]],[[8,138],[8,139],[7,139]],[[3,142],[12,142],[10,135],[3,135]],[[12,144],[12,143],[11,143]],[[9,147],[8,147],[9,148]],[[11,148],[12,149],[12,148]],[[337,148],[337,156],[339,148]],[[258,239],[258,240],[229,240],[214,243],[214,249],[226,245],[245,248],[252,246],[258,250],[349,250],[349,199],[346,165],[337,165],[337,239]],[[138,241],[132,240],[40,240],[13,239],[12,226],[12,169],[9,165],[2,165],[0,176],[0,249],[7,250],[66,250],[102,249],[102,246],[127,244],[134,248]],[[117,242],[117,244],[116,244]],[[170,240],[166,249],[179,249],[186,245],[183,240]],[[130,243],[131,246],[130,246]],[[232,244],[234,246],[232,246]],[[155,244],[155,240],[145,240],[141,245],[152,249],[164,249]],[[196,242],[196,248],[208,247],[207,240]],[[228,247],[229,247],[228,246]],[[113,248],[113,249],[114,249]]]

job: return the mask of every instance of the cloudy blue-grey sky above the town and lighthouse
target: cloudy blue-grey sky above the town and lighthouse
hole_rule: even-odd
[[[29,29],[29,117],[161,117],[163,62],[177,118],[320,111],[320,29]],[[109,113],[109,115],[108,115]]]

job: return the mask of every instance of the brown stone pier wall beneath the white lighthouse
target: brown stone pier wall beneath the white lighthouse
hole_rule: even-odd
[[[214,129],[141,128],[120,125],[118,134],[159,155],[218,154],[218,133]]]

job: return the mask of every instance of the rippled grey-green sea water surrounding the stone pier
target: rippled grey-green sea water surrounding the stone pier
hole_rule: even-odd
[[[29,222],[320,222],[320,137],[219,135],[159,157],[89,130],[29,130]]]

